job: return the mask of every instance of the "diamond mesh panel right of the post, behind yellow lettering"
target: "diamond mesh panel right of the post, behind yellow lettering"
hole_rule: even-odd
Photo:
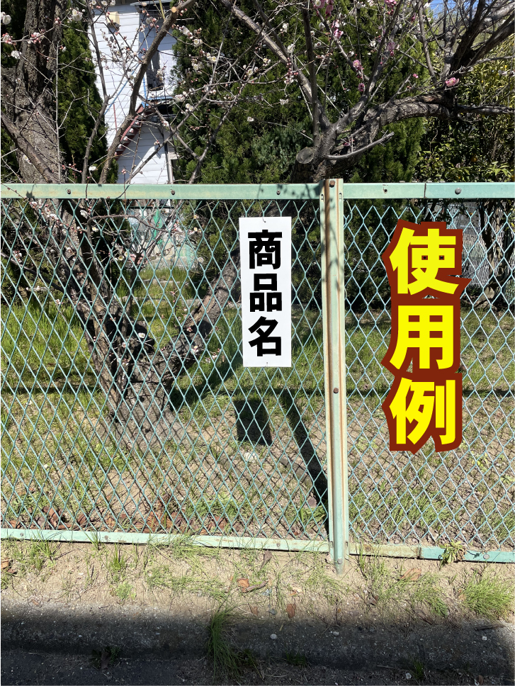
[[[463,230],[463,442],[390,452],[380,405],[393,376],[390,286],[381,260],[397,220]],[[354,539],[513,549],[514,213],[506,201],[347,201],[346,365],[349,526]]]

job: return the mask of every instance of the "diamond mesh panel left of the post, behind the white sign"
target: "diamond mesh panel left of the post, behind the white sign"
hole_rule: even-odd
[[[290,369],[242,366],[238,220],[264,214],[293,218]],[[318,214],[5,199],[2,527],[327,539]]]

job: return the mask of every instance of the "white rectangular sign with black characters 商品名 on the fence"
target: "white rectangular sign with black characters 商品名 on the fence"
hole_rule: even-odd
[[[239,219],[244,367],[291,366],[291,217]]]

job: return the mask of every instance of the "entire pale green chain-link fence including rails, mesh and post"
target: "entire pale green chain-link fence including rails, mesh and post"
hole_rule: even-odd
[[[363,542],[438,558],[461,539],[511,560],[514,185],[459,191],[3,186],[1,535],[194,534],[339,567]],[[292,217],[291,369],[242,366],[238,219],[265,214]],[[499,246],[464,250],[463,443],[444,454],[387,445],[398,218]]]

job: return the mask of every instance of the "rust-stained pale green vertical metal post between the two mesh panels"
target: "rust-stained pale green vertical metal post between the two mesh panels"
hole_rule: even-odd
[[[336,573],[349,561],[347,414],[345,385],[344,184],[324,181],[320,189],[322,320],[329,488],[329,548]]]

